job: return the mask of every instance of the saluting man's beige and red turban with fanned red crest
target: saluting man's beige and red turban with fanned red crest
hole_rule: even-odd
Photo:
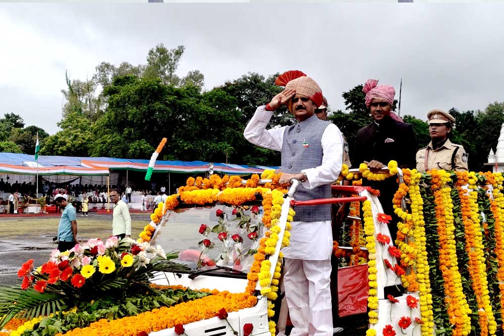
[[[322,104],[322,89],[318,86],[317,82],[307,77],[306,74],[301,71],[286,71],[278,76],[275,80],[275,84],[278,86],[285,86],[286,89],[296,89],[296,93],[310,98],[317,107]]]

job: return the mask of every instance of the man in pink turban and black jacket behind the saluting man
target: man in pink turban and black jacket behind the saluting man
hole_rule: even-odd
[[[416,165],[415,154],[417,141],[410,124],[396,116],[392,111],[396,90],[390,85],[377,85],[378,81],[369,79],[362,91],[366,93],[366,106],[369,107],[373,122],[357,132],[355,140],[356,166],[367,163],[369,169],[379,170],[390,160],[396,160],[401,168],[413,169]],[[395,225],[389,225],[393,240],[397,234],[397,216],[395,216],[392,199],[398,189],[395,178],[385,181],[368,181],[363,184],[380,191],[380,202],[383,211],[393,216]]]

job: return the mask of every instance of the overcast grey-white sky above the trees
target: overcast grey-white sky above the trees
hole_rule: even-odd
[[[129,2],[135,2],[131,0]],[[185,45],[178,74],[211,89],[247,72],[301,70],[332,109],[368,78],[396,87],[401,113],[483,109],[504,100],[504,4],[0,4],[0,117],[49,134],[65,71],[145,64],[157,43]]]

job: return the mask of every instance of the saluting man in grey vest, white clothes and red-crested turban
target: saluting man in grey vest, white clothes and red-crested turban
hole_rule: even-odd
[[[322,90],[300,71],[278,76],[275,84],[286,89],[257,107],[244,136],[255,145],[282,152],[284,174],[279,183],[288,187],[291,179],[302,182],[295,199],[330,198],[330,184],[341,171],[343,139],[336,125],[315,115],[322,104]],[[287,104],[297,124],[266,130],[281,104]],[[332,335],[330,204],[296,208],[291,244],[283,252],[286,298],[294,326],[291,335]]]

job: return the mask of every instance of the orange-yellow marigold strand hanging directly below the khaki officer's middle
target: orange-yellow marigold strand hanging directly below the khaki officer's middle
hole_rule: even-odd
[[[439,236],[439,268],[444,279],[444,301],[450,322],[454,325],[453,335],[468,335],[471,332],[471,310],[462,290],[462,277],[459,272],[457,250],[454,239],[454,217],[450,173],[443,170],[430,172],[434,192],[437,233]]]

